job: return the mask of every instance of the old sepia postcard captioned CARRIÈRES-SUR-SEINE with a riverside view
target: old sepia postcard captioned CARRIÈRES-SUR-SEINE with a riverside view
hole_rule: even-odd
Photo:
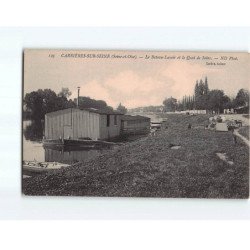
[[[23,194],[249,197],[248,53],[23,57]]]

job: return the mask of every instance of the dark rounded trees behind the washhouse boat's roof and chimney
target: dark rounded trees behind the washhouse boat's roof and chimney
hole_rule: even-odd
[[[23,99],[23,119],[44,120],[46,113],[77,107],[77,98],[70,99],[71,94],[68,88],[62,88],[58,94],[51,89],[39,89],[27,93]],[[105,101],[86,96],[79,97],[79,108],[113,110]],[[121,103],[116,110],[121,113],[127,112],[127,109]]]

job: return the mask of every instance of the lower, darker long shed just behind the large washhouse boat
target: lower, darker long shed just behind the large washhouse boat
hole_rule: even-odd
[[[124,115],[121,117],[123,134],[147,134],[150,132],[150,118],[145,116]]]

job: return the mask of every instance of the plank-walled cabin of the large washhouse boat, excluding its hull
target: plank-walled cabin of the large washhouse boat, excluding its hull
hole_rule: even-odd
[[[68,108],[45,115],[45,139],[106,140],[120,135],[122,114],[110,110]]]

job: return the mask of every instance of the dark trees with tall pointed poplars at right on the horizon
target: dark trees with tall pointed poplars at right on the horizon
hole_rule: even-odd
[[[246,107],[249,109],[249,91],[240,89],[235,97],[225,95],[223,90],[209,89],[208,79],[196,81],[194,94],[184,96],[182,100],[174,97],[163,101],[163,109],[166,112],[185,110],[206,110],[207,113],[223,113],[224,109],[237,109]]]

